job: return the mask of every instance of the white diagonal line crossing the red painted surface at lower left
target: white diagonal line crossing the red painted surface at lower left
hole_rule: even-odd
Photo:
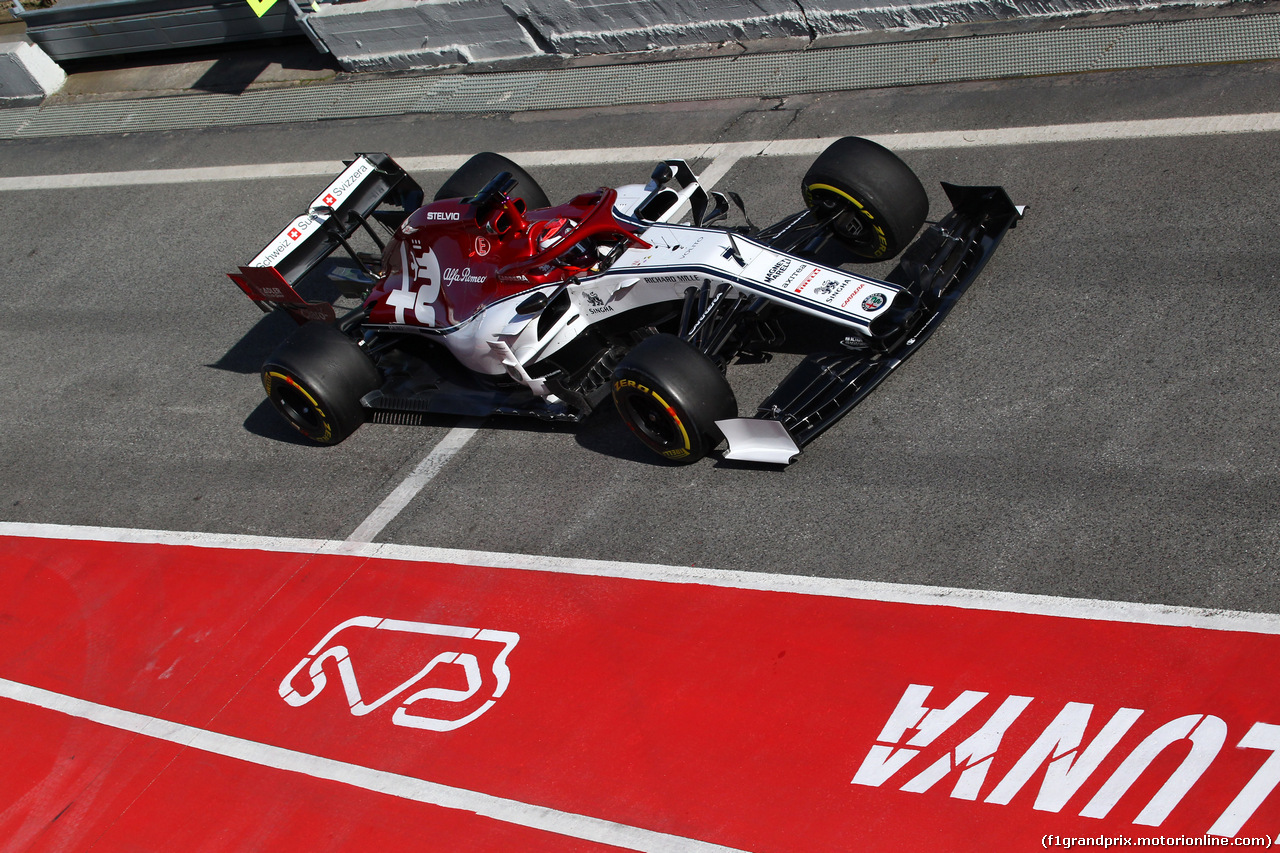
[[[168,740],[169,743],[216,756],[238,758],[239,761],[247,761],[260,767],[285,770],[315,779],[355,785],[356,788],[378,794],[475,812],[481,817],[503,821],[504,824],[529,826],[557,835],[609,844],[625,850],[643,850],[644,853],[684,853],[685,850],[690,850],[691,853],[740,853],[733,848],[721,847],[719,844],[708,844],[625,824],[614,824],[613,821],[598,817],[559,812],[545,806],[531,806],[462,788],[440,785],[412,776],[402,776],[344,761],[334,761],[333,758],[273,747],[255,740],[233,738],[216,731],[209,731],[207,729],[196,729],[96,702],[86,702],[84,699],[52,693],[8,679],[0,679],[0,697],[58,713],[65,713],[81,720],[88,720],[120,731],[131,731],[157,740]]]

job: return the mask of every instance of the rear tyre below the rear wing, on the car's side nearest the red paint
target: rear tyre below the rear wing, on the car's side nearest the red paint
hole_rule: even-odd
[[[381,384],[356,342],[325,323],[307,323],[262,364],[275,410],[320,444],[337,444],[365,423],[360,398]]]

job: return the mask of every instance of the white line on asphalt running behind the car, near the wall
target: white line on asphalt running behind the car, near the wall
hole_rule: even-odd
[[[892,133],[868,137],[897,151],[929,149],[970,149],[997,145],[1041,145],[1052,142],[1098,142],[1105,140],[1149,140],[1161,137],[1212,136],[1220,133],[1280,132],[1280,113],[1247,115],[1201,115],[1189,118],[1134,122],[1093,122],[928,133]],[[717,142],[710,145],[635,146],[618,149],[576,149],[564,151],[506,152],[524,167],[590,165],[595,163],[657,163],[664,158],[686,160],[744,156],[815,155],[836,137]],[[396,158],[410,172],[451,172],[470,154]],[[307,163],[266,163],[256,165],[205,167],[193,169],[151,169],[137,172],[91,172],[78,174],[22,175],[0,178],[0,191],[76,190],[86,187],[129,187],[161,183],[211,181],[262,181],[276,178],[332,177],[342,170],[337,160]]]

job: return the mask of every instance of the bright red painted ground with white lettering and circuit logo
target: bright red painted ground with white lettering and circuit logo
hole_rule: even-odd
[[[1280,724],[1274,635],[174,546],[0,538],[0,566],[3,679],[744,850],[1199,836],[1271,756],[1238,747],[1242,738]],[[337,657],[317,670],[326,683],[310,702],[282,699],[291,671],[357,616],[518,634],[509,686],[453,731],[397,725],[396,711],[424,688],[461,694],[461,663],[440,665],[362,716],[349,710]],[[358,626],[338,637],[366,702],[452,652],[479,663],[475,695],[428,697],[410,711],[470,712],[497,688],[500,643]],[[314,684],[294,679],[300,693]],[[965,690],[988,695],[882,784],[852,784],[881,736],[901,748],[914,735],[883,731],[913,684],[932,688],[929,708]],[[1009,697],[1025,697],[1025,708],[974,799],[952,795],[959,770],[923,793],[902,790]],[[1043,770],[1007,804],[987,802],[1068,703],[1093,706],[1084,747],[1121,708],[1142,715],[1060,811],[1033,807]],[[1220,724],[1225,740],[1158,826],[1133,821],[1192,753],[1188,740],[1160,752],[1106,817],[1080,816],[1139,743],[1187,715],[1208,715],[1198,731]],[[6,849],[608,849],[9,699],[0,699],[0,736]],[[1277,803],[1280,794],[1266,797],[1239,835],[1275,838]]]

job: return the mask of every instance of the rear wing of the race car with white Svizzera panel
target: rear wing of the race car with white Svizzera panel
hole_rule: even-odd
[[[333,321],[330,304],[311,302],[294,286],[339,247],[372,278],[374,270],[351,246],[352,234],[364,229],[380,251],[385,243],[369,220],[396,228],[422,204],[422,188],[385,154],[357,154],[346,167],[305,214],[285,225],[238,273],[228,273],[264,313],[280,309],[300,324]],[[388,207],[381,209],[384,205]]]

